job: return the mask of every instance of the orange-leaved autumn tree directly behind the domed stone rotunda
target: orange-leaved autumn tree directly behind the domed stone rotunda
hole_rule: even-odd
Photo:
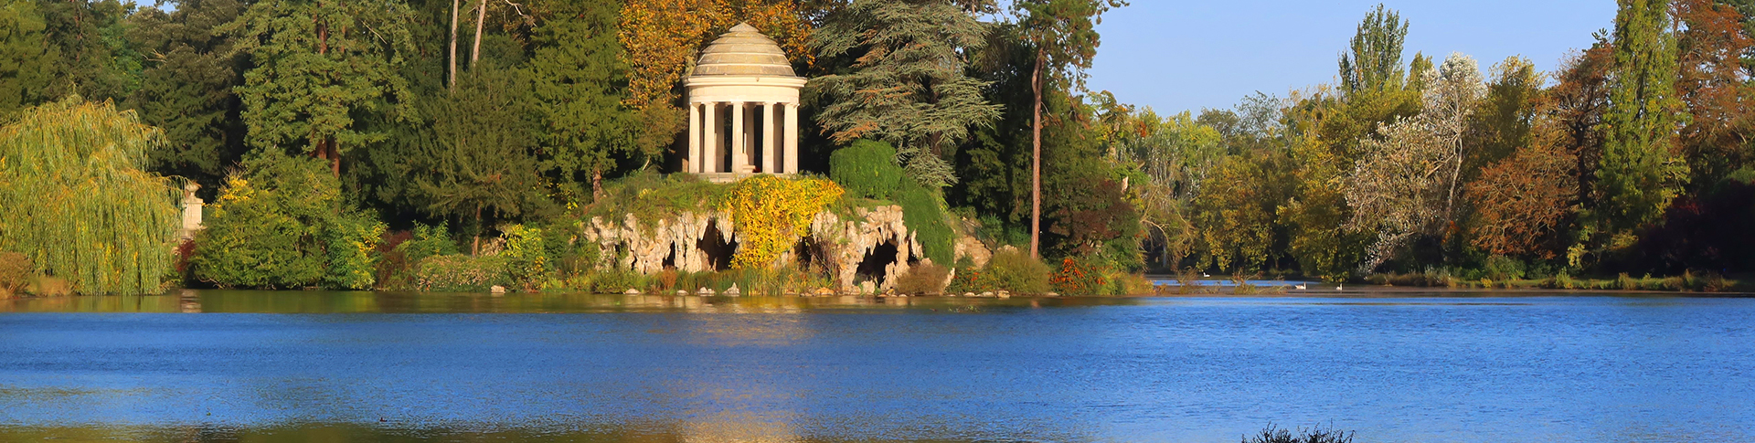
[[[628,107],[642,124],[637,144],[663,149],[683,130],[683,77],[714,35],[749,23],[779,42],[793,65],[811,65],[807,7],[793,0],[628,0],[618,39],[628,63]]]

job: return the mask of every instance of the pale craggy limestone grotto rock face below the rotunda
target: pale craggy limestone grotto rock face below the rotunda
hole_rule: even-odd
[[[713,229],[709,229],[713,228]],[[728,214],[718,210],[683,212],[669,219],[642,222],[628,214],[620,222],[591,217],[579,222],[581,240],[595,242],[605,256],[605,263],[646,275],[665,270],[665,259],[679,271],[711,271],[713,257],[702,249],[709,235],[716,231],[721,243],[737,242],[737,226]],[[853,292],[860,263],[883,245],[895,249],[893,256],[872,257],[886,263],[883,278],[876,289],[895,287],[895,278],[909,270],[909,261],[923,257],[914,233],[902,222],[902,207],[856,208],[853,217],[841,219],[832,212],[818,212],[811,217],[806,245],[811,245],[811,263],[820,263],[835,277],[841,292]],[[979,245],[979,242],[976,242]],[[623,252],[623,254],[618,254]],[[985,249],[981,249],[985,252]],[[728,259],[732,250],[723,250]],[[620,256],[620,259],[616,259]],[[786,252],[772,266],[799,263],[795,252]],[[981,259],[985,261],[985,259]]]

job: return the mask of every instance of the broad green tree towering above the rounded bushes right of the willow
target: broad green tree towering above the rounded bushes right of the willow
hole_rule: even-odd
[[[265,0],[223,32],[256,65],[235,91],[247,142],[300,147],[340,177],[340,156],[388,135],[360,123],[395,116],[411,98],[400,75],[414,53],[412,12],[397,0]]]

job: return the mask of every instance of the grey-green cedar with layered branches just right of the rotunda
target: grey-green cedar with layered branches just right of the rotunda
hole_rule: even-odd
[[[855,0],[811,35],[821,58],[856,56],[851,74],[823,75],[816,88],[834,96],[818,114],[841,144],[879,138],[927,186],[956,182],[944,147],[986,126],[1000,107],[965,75],[963,54],[981,47],[986,26],[944,0]]]

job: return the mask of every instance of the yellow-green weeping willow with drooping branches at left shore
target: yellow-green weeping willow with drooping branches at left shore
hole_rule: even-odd
[[[158,292],[177,191],[140,166],[163,135],[133,110],[74,96],[0,128],[0,250],[81,294]]]

